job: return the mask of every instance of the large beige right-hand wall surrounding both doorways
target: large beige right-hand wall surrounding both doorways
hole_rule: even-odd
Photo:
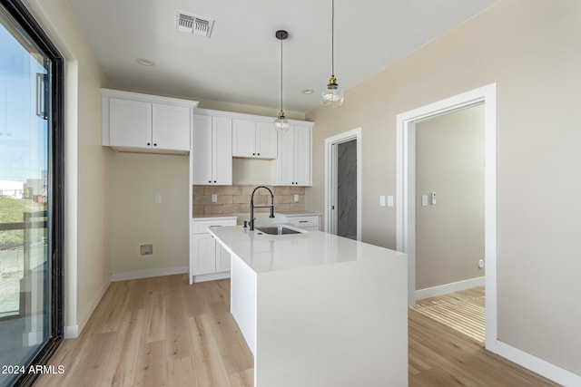
[[[396,115],[497,82],[498,339],[581,375],[579,15],[577,0],[503,1],[307,113],[306,206],[324,209],[324,139],[361,127],[363,240],[395,247],[378,197],[396,190]]]

